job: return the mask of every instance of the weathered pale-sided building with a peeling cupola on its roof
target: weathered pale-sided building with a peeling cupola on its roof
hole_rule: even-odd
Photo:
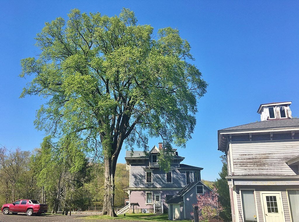
[[[299,119],[290,105],[261,104],[260,122],[218,131],[234,222],[299,222]]]

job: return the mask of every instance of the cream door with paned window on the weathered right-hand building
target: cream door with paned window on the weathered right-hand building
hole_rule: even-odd
[[[280,193],[263,193],[266,222],[284,222]]]

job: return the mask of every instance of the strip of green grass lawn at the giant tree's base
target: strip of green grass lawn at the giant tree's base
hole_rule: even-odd
[[[124,217],[123,214],[118,215],[118,217],[108,217],[108,216],[88,216],[84,217],[86,220],[103,220],[103,219],[111,219],[111,220],[141,220],[141,221],[158,221],[158,222],[164,222],[164,221],[170,221],[168,220],[168,214],[161,214],[161,215],[156,215],[156,214],[127,214]],[[185,221],[185,222],[190,222],[191,220],[180,220],[180,221]]]

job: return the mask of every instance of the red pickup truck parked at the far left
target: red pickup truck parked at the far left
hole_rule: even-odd
[[[48,210],[47,204],[40,204],[37,200],[21,199],[13,203],[4,204],[1,208],[3,214],[26,213],[27,216],[32,216],[33,213],[40,215]]]

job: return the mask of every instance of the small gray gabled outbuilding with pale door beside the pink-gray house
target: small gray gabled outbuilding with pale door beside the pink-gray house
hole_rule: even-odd
[[[193,216],[193,205],[197,204],[197,196],[210,193],[212,190],[201,181],[188,184],[176,195],[166,195],[168,204],[168,220],[185,220]]]

